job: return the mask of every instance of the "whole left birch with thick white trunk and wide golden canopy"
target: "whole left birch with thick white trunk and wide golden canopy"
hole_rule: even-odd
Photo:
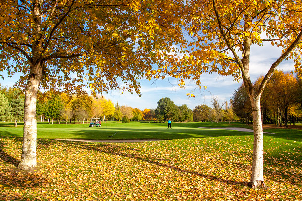
[[[18,84],[25,88],[19,169],[37,164],[39,87],[83,93],[88,85],[93,94],[113,88],[139,93],[137,80],[151,70],[162,50],[171,48],[173,37],[181,39],[174,31],[181,29],[180,12],[172,12],[178,4],[178,0],[0,2],[0,71],[10,76],[21,72]]]

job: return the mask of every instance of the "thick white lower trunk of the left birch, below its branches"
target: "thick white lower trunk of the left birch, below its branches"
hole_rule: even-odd
[[[23,147],[21,161],[18,165],[19,169],[26,171],[31,171],[37,167],[36,104],[41,77],[41,64],[31,65],[31,74],[25,88]]]

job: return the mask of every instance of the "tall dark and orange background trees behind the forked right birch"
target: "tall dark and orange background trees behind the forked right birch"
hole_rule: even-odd
[[[263,77],[253,84],[259,87]],[[249,96],[242,84],[231,98],[232,108],[236,115],[248,123],[252,121],[252,107]],[[298,121],[302,115],[302,77],[275,70],[261,96],[262,122],[274,123],[278,127]]]

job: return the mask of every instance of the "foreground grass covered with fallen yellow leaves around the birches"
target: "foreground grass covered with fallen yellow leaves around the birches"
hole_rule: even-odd
[[[0,138],[3,201],[302,200],[302,143],[266,139],[266,190],[247,187],[252,136],[144,143],[38,140],[39,170],[17,171],[22,138]]]

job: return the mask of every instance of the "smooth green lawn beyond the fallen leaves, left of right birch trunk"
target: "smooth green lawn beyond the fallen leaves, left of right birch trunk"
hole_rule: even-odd
[[[23,124],[17,128],[12,123],[0,124],[0,136],[23,136]],[[205,130],[198,127],[249,127],[242,123],[172,123],[172,130],[167,129],[167,123],[102,123],[101,127],[88,127],[88,124],[48,124],[38,123],[38,138],[74,138],[74,139],[184,139],[217,136],[215,130]],[[116,134],[115,134],[116,133]],[[240,132],[222,130],[219,135],[242,135]],[[110,138],[109,136],[114,137]],[[252,135],[252,133],[245,133]]]

